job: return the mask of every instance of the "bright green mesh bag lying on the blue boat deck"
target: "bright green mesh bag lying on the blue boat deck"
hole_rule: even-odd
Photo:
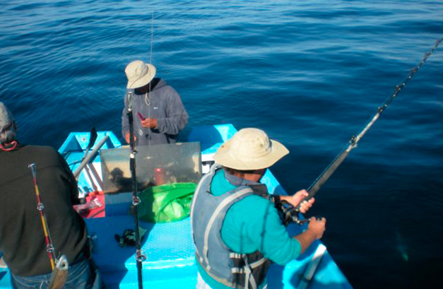
[[[187,218],[196,186],[193,182],[185,182],[148,187],[138,194],[141,199],[138,218],[151,223],[169,223]]]

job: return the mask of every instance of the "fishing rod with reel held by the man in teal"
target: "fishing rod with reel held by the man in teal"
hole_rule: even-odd
[[[345,158],[348,157],[350,151],[352,151],[354,148],[357,148],[357,144],[360,141],[360,139],[366,134],[366,132],[370,129],[370,127],[374,124],[374,122],[376,122],[377,119],[379,119],[380,115],[384,112],[384,110],[386,110],[386,107],[389,106],[389,104],[392,102],[392,100],[394,100],[394,98],[397,97],[398,93],[400,93],[401,89],[403,87],[405,87],[406,83],[408,83],[408,81],[410,81],[410,79],[414,76],[414,74],[417,73],[417,71],[423,66],[423,64],[425,64],[426,59],[428,57],[430,57],[430,55],[435,51],[435,49],[437,49],[437,47],[439,46],[439,44],[442,41],[443,41],[443,38],[437,40],[437,42],[435,43],[435,46],[432,47],[430,52],[427,52],[425,54],[425,57],[423,57],[423,59],[418,63],[418,65],[415,66],[410,71],[410,73],[408,74],[408,76],[406,76],[406,78],[403,80],[403,82],[400,85],[396,85],[396,89],[394,90],[394,93],[392,93],[389,96],[389,98],[387,98],[383,102],[382,106],[380,106],[377,109],[377,112],[372,116],[370,121],[367,122],[367,124],[363,127],[363,129],[361,129],[357,135],[350,138],[348,146],[346,146],[343,149],[343,151],[341,151],[341,153],[339,153],[336,156],[336,158],[333,159],[333,161],[328,165],[328,167],[326,167],[326,169],[321,173],[321,175],[319,175],[319,177],[317,177],[317,179],[309,187],[309,189],[307,189],[309,195],[305,196],[305,198],[302,199],[300,204],[303,201],[311,199],[313,196],[315,196],[315,194],[317,194],[319,189],[321,189],[321,187],[323,187],[323,185],[326,183],[326,181],[329,179],[329,177],[331,177],[333,172],[335,172],[337,170],[337,168],[341,165],[341,163],[343,163],[343,160],[345,160]],[[298,212],[300,212],[300,204],[297,207],[293,207],[292,205],[288,204],[287,202],[285,202],[285,204],[282,204],[284,206],[283,215],[284,215],[286,222],[293,222],[293,223],[297,223],[299,225],[302,225],[303,223],[307,222],[307,220],[300,220],[298,218]]]

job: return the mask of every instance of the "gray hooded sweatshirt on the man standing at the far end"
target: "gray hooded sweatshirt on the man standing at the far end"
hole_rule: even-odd
[[[150,93],[147,95],[134,93],[132,98],[134,135],[137,138],[137,146],[176,143],[179,132],[189,122],[189,115],[177,91],[170,85],[167,85],[163,79],[155,78],[153,83],[157,84]],[[129,132],[127,101],[125,95],[122,112],[123,137]],[[139,113],[143,118],[157,119],[157,127],[155,129],[142,127],[141,119],[138,116]]]

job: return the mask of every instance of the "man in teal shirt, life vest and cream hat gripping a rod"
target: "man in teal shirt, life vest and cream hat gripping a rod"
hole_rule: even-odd
[[[197,288],[264,288],[271,261],[287,264],[321,238],[326,220],[315,218],[305,232],[290,237],[266,185],[259,183],[288,153],[259,129],[242,129],[215,153],[216,163],[201,179],[191,206]],[[305,196],[302,190],[280,199],[297,206]],[[300,211],[313,203],[303,201]]]

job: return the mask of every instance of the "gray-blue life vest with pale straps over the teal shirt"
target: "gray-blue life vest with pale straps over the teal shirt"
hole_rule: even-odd
[[[266,185],[240,186],[221,196],[211,194],[211,182],[222,169],[218,164],[203,176],[191,205],[192,237],[196,246],[196,259],[215,281],[231,288],[256,289],[264,281],[271,261],[261,252],[238,254],[222,240],[223,220],[230,206],[246,196],[268,196]]]

